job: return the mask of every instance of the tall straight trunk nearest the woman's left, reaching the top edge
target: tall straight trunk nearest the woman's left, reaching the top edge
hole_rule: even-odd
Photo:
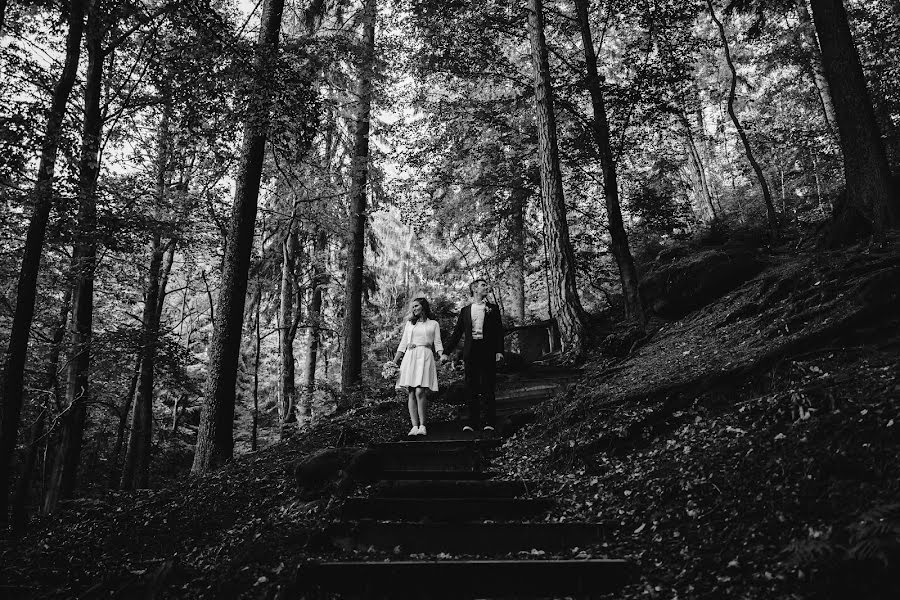
[[[350,182],[350,252],[344,299],[344,348],[341,387],[346,391],[362,378],[362,291],[366,247],[366,180],[369,173],[369,124],[372,112],[372,69],[375,65],[376,0],[365,0],[362,63],[357,83],[355,132]],[[346,398],[342,396],[342,398]],[[339,405],[341,409],[348,406]]]

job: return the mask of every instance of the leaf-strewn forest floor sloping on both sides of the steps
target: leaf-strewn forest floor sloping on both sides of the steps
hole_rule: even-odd
[[[499,469],[544,481],[547,519],[606,525],[572,555],[634,562],[617,598],[900,597],[898,242],[769,250],[627,357],[592,354]],[[66,503],[0,541],[0,595],[276,597],[329,514],[292,464],[401,435],[383,394],[216,473]]]

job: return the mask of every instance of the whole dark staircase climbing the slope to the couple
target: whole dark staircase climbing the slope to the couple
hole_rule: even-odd
[[[549,379],[549,378],[548,378]],[[565,382],[498,386],[498,414],[520,414]],[[423,440],[377,446],[383,479],[348,498],[328,529],[333,558],[301,565],[292,598],[593,598],[629,579],[627,563],[572,558],[608,534],[551,523],[535,482],[494,478],[499,440],[432,423]]]

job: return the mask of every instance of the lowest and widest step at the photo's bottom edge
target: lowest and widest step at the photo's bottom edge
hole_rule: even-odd
[[[560,598],[619,590],[622,560],[460,560],[307,563],[294,598]]]

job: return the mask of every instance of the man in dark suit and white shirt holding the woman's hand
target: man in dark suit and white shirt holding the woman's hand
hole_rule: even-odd
[[[463,431],[473,432],[483,425],[486,435],[493,435],[497,426],[494,382],[497,363],[503,360],[503,323],[500,307],[486,300],[490,289],[484,279],[469,284],[472,302],[459,312],[453,334],[441,354],[441,363],[444,363],[447,353],[453,351],[460,339],[464,340],[462,357],[466,363],[469,423]]]

